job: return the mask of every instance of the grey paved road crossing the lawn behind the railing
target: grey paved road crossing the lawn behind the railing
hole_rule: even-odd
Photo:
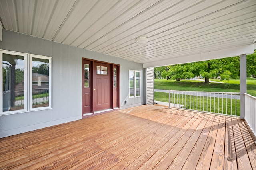
[[[160,90],[160,89],[154,89],[154,92],[164,92],[164,93],[169,93],[169,90]],[[184,92],[183,94],[189,94],[190,95],[190,92]],[[221,92],[220,92],[220,94],[216,94],[216,93],[212,93],[212,94],[210,94],[210,92],[208,93],[208,92],[191,92],[191,95],[193,96],[208,96],[208,97],[210,97],[210,96],[212,96],[212,97],[214,97],[214,95],[215,95],[215,97],[216,98],[228,98],[228,99],[230,99],[230,98],[232,98],[232,99],[240,99],[240,95],[239,94],[237,94],[237,95],[234,95],[234,94],[232,94],[232,95],[230,95],[230,94],[228,94],[228,95],[226,95],[226,94],[221,94]]]

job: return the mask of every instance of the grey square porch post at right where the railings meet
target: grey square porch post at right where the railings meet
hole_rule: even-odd
[[[245,117],[245,95],[246,87],[246,54],[240,55],[240,119]]]

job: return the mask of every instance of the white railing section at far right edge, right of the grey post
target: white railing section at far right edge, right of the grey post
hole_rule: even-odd
[[[250,129],[256,136],[256,97],[245,93],[245,118]]]

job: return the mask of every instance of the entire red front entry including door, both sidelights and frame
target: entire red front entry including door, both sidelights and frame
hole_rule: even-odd
[[[83,118],[119,109],[120,66],[90,59],[82,61]]]

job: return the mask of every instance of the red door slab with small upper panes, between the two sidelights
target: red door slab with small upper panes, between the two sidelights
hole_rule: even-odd
[[[93,72],[93,110],[111,109],[112,67],[110,64],[94,62]]]

